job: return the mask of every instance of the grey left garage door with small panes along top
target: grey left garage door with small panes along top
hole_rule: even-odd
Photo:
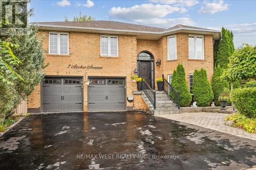
[[[42,86],[42,111],[82,111],[81,79],[46,78]]]

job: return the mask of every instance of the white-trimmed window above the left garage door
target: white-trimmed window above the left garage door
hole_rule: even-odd
[[[69,54],[68,33],[49,33],[49,54]]]

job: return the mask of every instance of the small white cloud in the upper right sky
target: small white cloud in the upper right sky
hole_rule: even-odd
[[[228,4],[224,4],[223,0],[214,1],[212,3],[204,2],[204,6],[198,11],[198,13],[210,13],[214,14],[216,12],[227,11]]]

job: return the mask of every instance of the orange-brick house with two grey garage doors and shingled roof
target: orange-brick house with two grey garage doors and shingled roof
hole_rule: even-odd
[[[116,21],[39,22],[44,36],[45,80],[28,97],[29,112],[148,109],[131,75],[148,85],[172,81],[178,63],[189,88],[195,69],[214,70],[213,42],[220,32],[177,25],[169,29]],[[156,62],[159,62],[156,64]],[[90,84],[84,81],[89,78]],[[133,102],[126,97],[132,95]]]

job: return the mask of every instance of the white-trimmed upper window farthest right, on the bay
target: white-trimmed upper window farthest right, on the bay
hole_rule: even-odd
[[[188,58],[204,59],[203,36],[188,36]]]

